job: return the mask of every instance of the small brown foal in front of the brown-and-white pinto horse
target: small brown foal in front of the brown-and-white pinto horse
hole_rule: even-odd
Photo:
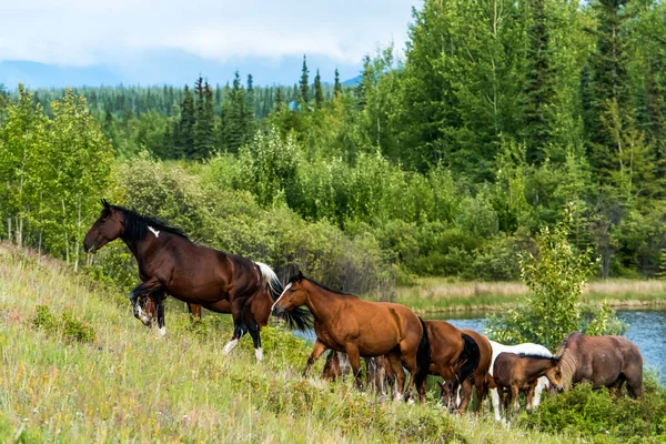
[[[495,359],[493,380],[504,404],[506,421],[509,421],[509,405],[514,404],[514,414],[518,413],[519,392],[527,391],[536,381],[546,376],[558,391],[563,390],[561,356],[527,355],[503,352]]]

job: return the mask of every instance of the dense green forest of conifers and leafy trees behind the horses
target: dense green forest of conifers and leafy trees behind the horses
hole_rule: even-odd
[[[426,0],[413,16],[404,57],[369,54],[354,87],[336,72],[324,84],[304,58],[290,87],[236,73],[224,87],[18,88],[0,118],[0,236],[78,258],[107,195],[369,291],[516,279],[518,254],[569,209],[599,276],[659,275],[666,4]],[[80,171],[62,171],[68,157]]]

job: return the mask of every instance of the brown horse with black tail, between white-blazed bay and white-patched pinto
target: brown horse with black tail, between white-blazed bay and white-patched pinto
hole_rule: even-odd
[[[451,386],[455,381],[465,381],[476,370],[481,360],[478,345],[470,336],[446,321],[424,321],[431,344],[428,374],[442,376]],[[440,384],[442,387],[442,384]],[[426,381],[417,387],[421,397],[425,396]],[[446,405],[451,407],[452,393]],[[443,400],[444,401],[444,400]]]

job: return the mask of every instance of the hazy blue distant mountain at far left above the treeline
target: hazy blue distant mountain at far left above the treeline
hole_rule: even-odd
[[[59,67],[22,60],[0,62],[0,83],[16,88],[23,83],[29,88],[63,88],[88,85],[115,85],[122,78],[103,65]]]

